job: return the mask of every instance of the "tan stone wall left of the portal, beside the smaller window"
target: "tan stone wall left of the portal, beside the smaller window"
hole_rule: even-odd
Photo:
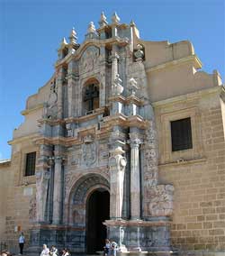
[[[0,225],[0,241],[5,242],[12,252],[19,252],[18,237],[21,232],[25,235],[25,247],[29,245],[29,230],[35,214],[35,206],[32,202],[36,187],[35,176],[23,177],[23,172],[26,152],[35,151],[35,149],[31,139],[15,144],[10,167],[7,170],[0,169],[0,182],[5,187],[4,193],[0,191],[0,195],[3,195],[0,202],[4,205],[4,215],[1,213],[3,225]],[[2,172],[4,172],[3,175]],[[2,184],[0,187],[2,188]],[[32,210],[31,207],[33,207]],[[0,209],[2,210],[2,205]]]

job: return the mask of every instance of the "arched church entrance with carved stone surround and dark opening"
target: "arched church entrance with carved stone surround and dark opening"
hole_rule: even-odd
[[[67,208],[67,223],[71,227],[71,232],[68,232],[67,235],[67,247],[70,251],[74,251],[76,253],[93,253],[91,251],[99,251],[98,249],[103,251],[103,239],[106,236],[106,229],[102,222],[110,219],[109,191],[109,180],[101,174],[89,173],[76,180],[70,191],[69,204]],[[96,207],[94,205],[96,204],[97,208],[101,208],[103,211],[101,211],[100,214],[97,214],[97,216],[100,216],[99,219],[95,219],[92,222],[91,220],[94,219],[94,211],[96,211]],[[106,213],[108,214],[106,215]],[[96,247],[94,247],[95,245],[92,245],[90,242],[89,236],[89,234],[92,233],[92,237],[96,237],[96,230],[92,231],[90,229],[90,225],[95,222],[97,223],[96,226],[103,228],[102,233],[105,235],[103,239],[101,239],[101,242],[99,242],[100,240],[94,240],[94,244],[97,245],[97,250]]]

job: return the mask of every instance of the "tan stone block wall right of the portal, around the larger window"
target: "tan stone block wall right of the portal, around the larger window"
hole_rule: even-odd
[[[184,251],[225,250],[225,143],[220,89],[155,103],[159,138],[159,178],[175,187],[173,245]],[[167,152],[166,116],[193,115],[193,150]],[[167,138],[165,141],[164,139]],[[197,142],[195,143],[194,140]],[[201,147],[194,150],[194,145]]]

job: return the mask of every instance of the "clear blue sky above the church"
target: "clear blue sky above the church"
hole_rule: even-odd
[[[218,69],[225,79],[223,0],[0,0],[0,159],[10,158],[14,128],[23,123],[26,98],[54,72],[62,37],[76,28],[84,41],[88,23],[114,11],[121,23],[137,24],[148,41],[193,42],[203,70]]]

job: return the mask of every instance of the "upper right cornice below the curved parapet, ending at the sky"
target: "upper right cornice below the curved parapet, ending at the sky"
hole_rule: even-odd
[[[201,69],[202,68],[202,62],[201,60],[197,57],[197,55],[193,54],[181,59],[174,59],[171,61],[166,61],[165,63],[162,64],[158,64],[157,66],[154,67],[148,67],[148,62],[145,61],[145,69],[146,72],[152,72],[152,71],[157,71],[160,69],[167,69],[167,68],[171,68],[171,67],[175,67],[177,65],[181,65],[185,62],[193,62],[193,67],[195,69]]]

